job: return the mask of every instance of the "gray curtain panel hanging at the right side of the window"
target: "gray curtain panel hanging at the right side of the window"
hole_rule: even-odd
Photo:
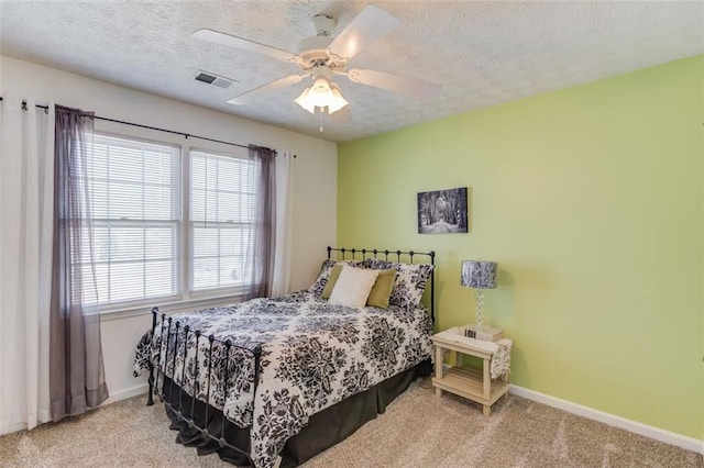
[[[276,224],[276,152],[250,145],[250,158],[256,164],[256,221],[252,249],[252,283],[245,299],[270,296],[274,281]]]

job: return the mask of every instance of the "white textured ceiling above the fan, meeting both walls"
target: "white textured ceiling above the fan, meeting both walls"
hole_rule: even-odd
[[[704,2],[375,1],[400,27],[350,67],[442,86],[430,102],[336,78],[353,121],[311,115],[293,100],[308,81],[248,105],[226,101],[298,71],[264,55],[205,43],[209,27],[290,52],[327,13],[340,32],[360,1],[0,0],[0,52],[343,142],[704,53]],[[195,81],[198,69],[238,80]],[[70,104],[70,103],[67,103]]]

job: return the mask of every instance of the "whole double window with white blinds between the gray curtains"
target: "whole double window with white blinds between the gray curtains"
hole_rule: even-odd
[[[246,151],[96,133],[87,169],[94,235],[82,242],[102,311],[207,302],[252,280],[256,167]]]

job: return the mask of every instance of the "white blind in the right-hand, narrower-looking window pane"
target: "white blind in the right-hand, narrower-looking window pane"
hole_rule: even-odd
[[[191,289],[249,283],[255,220],[255,166],[237,156],[190,152]]]

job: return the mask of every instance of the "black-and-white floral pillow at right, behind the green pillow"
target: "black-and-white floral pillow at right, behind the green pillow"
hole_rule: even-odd
[[[367,258],[362,263],[362,266],[372,269],[394,268],[398,274],[388,303],[406,310],[414,310],[420,304],[422,293],[435,268],[429,264],[400,264],[378,258]]]

